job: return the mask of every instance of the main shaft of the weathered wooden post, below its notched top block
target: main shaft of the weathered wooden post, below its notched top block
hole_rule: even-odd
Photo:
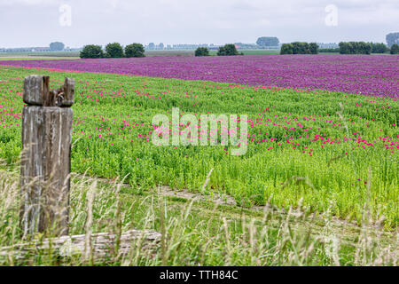
[[[25,106],[23,109],[21,183],[25,234],[67,234],[71,170],[71,108]],[[54,228],[57,226],[58,228]]]

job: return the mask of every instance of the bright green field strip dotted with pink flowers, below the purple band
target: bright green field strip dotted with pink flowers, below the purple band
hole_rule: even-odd
[[[399,217],[397,99],[326,91],[279,90],[228,83],[138,76],[60,73],[0,67],[0,157],[20,155],[23,78],[51,75],[76,80],[72,168],[96,177],[126,177],[142,191],[157,185],[231,195],[239,206],[300,206],[312,212],[363,220]],[[340,106],[341,104],[341,106]],[[244,156],[231,146],[154,146],[153,115],[172,107],[182,114],[247,114],[250,142]],[[184,126],[182,125],[182,128]]]

